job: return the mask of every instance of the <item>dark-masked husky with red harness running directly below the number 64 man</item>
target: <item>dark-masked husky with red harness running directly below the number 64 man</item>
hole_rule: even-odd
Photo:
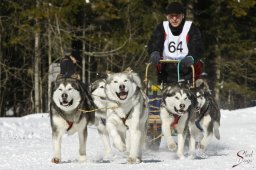
[[[191,91],[183,84],[169,85],[163,89],[160,118],[162,133],[171,151],[177,149],[179,159],[184,159],[184,144],[188,132],[188,120],[193,112],[196,99]],[[171,131],[177,131],[178,147]]]

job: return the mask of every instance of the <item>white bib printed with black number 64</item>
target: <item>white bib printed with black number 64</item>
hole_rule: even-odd
[[[163,59],[181,60],[188,55],[187,34],[192,21],[185,21],[182,32],[179,36],[174,36],[169,27],[169,21],[164,21],[164,31],[166,34],[164,41]]]

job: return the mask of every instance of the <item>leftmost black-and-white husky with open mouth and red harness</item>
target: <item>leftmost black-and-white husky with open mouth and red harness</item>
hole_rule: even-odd
[[[79,135],[79,161],[86,161],[87,125],[94,123],[94,113],[82,113],[79,109],[94,107],[91,96],[79,80],[56,80],[50,103],[50,121],[53,141],[53,163],[61,162],[61,138],[64,134]]]

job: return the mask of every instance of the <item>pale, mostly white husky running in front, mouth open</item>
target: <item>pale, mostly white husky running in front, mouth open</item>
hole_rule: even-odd
[[[140,163],[148,119],[148,101],[141,89],[141,79],[130,68],[107,75],[107,130],[114,147],[128,152],[127,162]]]

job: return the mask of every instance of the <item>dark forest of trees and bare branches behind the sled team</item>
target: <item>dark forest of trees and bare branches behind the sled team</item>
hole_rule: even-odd
[[[142,80],[147,43],[171,0],[1,0],[0,117],[48,112],[69,50],[82,81],[131,67]],[[204,39],[204,72],[221,108],[256,105],[256,1],[181,0]],[[155,68],[149,80],[155,83]]]

